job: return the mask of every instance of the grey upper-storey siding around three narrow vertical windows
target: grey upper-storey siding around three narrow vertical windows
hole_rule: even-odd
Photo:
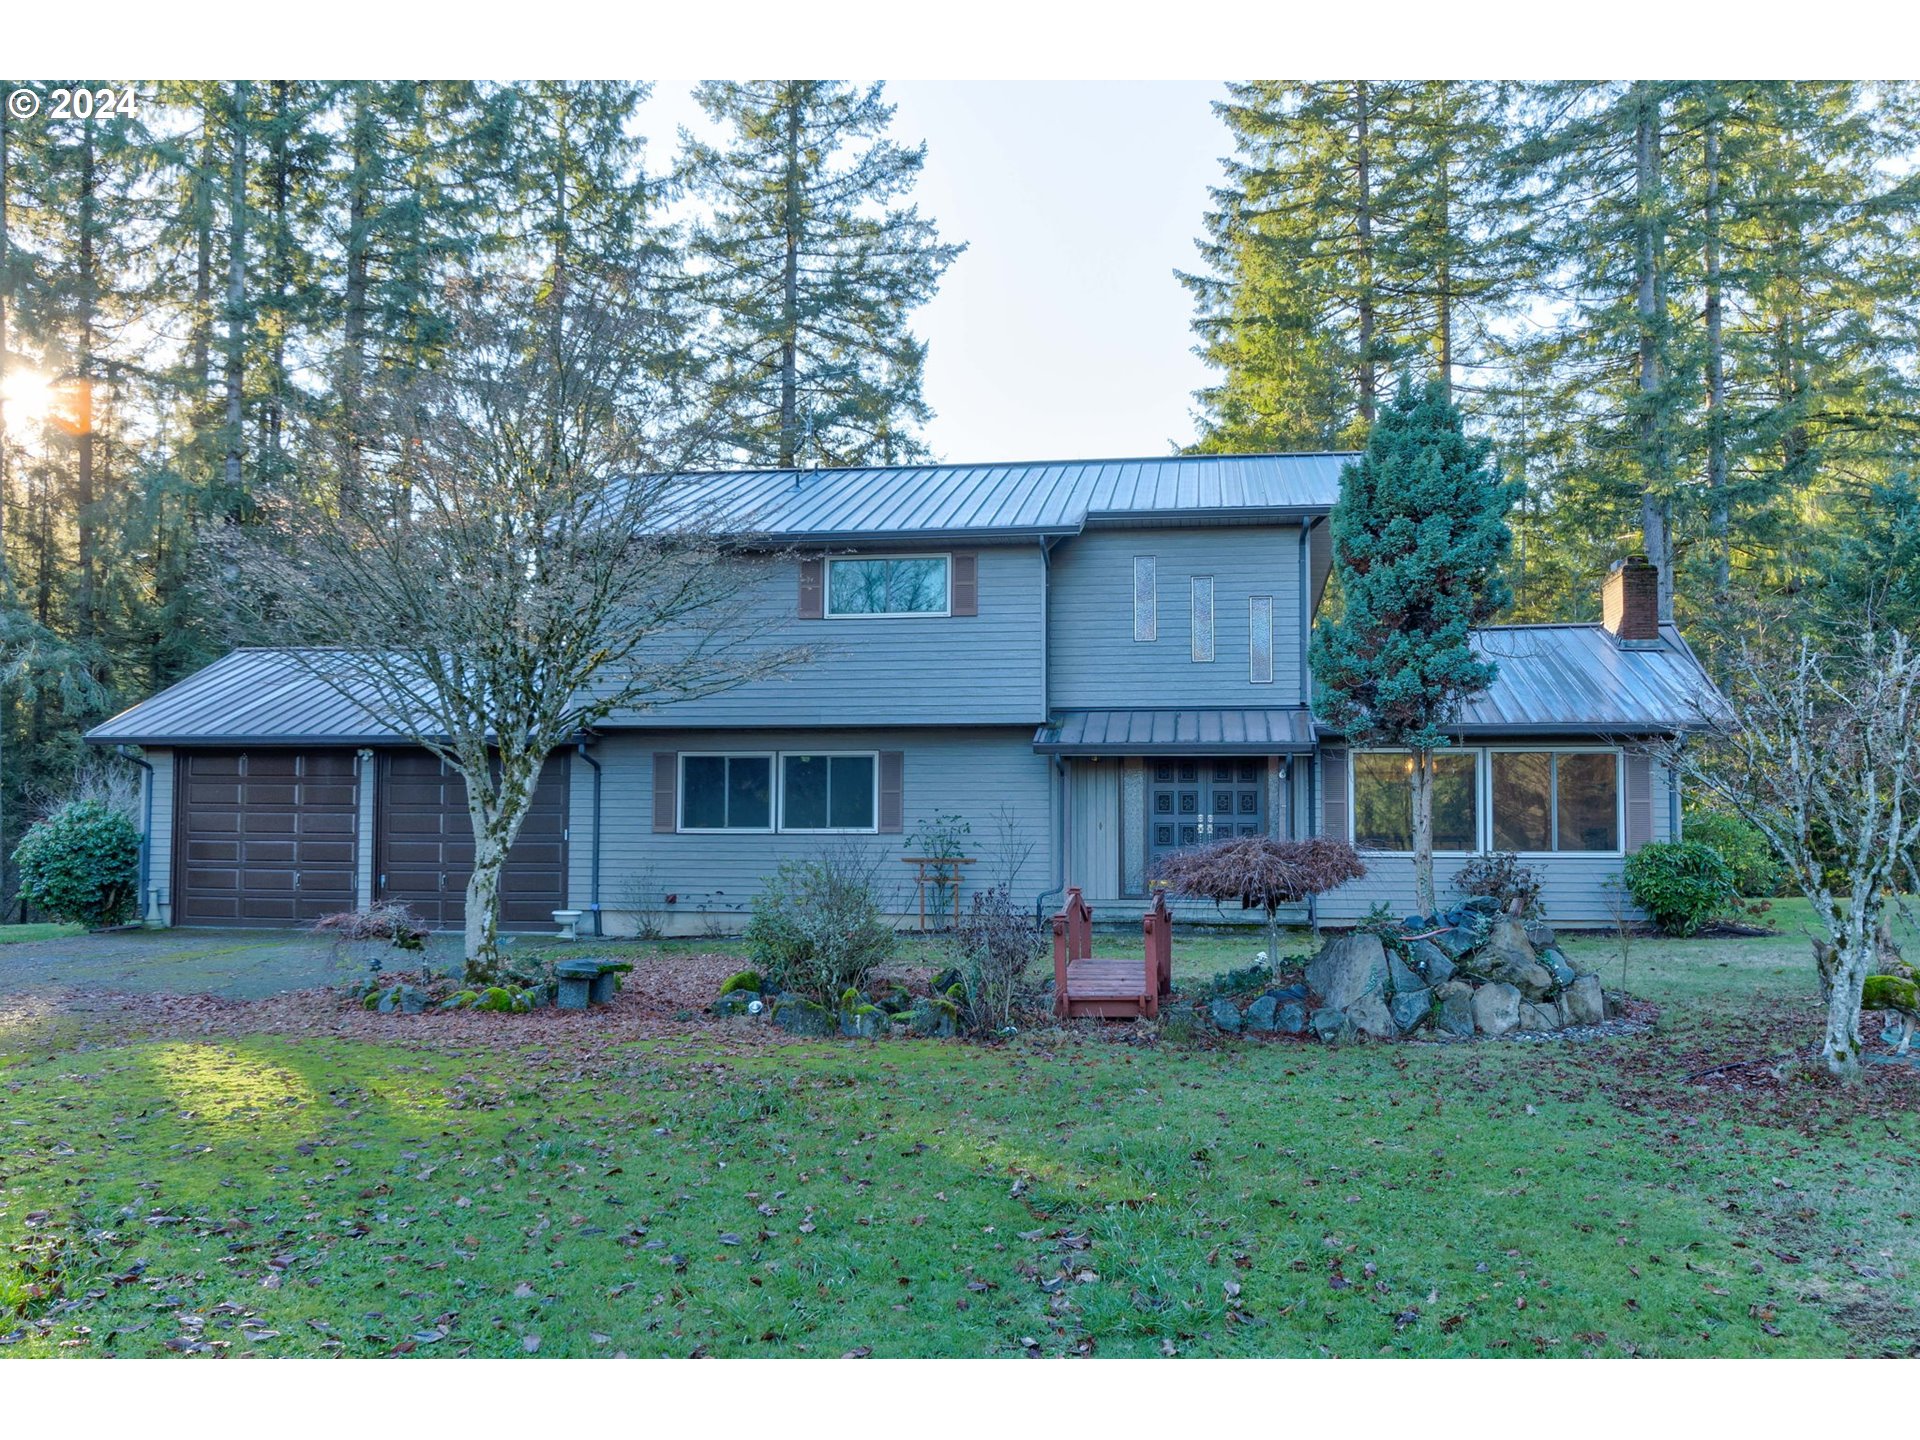
[[[1133,559],[1154,557],[1158,636],[1133,637]],[[1194,660],[1192,578],[1213,578]],[[1246,672],[1248,597],[1273,595],[1273,684]],[[1300,705],[1298,526],[1089,530],[1052,555],[1048,703],[1060,710]]]

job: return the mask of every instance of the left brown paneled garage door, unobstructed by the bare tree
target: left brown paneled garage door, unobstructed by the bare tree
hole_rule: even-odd
[[[184,751],[173,918],[298,925],[353,908],[353,751]]]

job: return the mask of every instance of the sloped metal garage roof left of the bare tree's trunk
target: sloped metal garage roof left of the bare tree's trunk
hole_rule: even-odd
[[[294,651],[240,649],[86,732],[96,745],[390,745],[392,726]]]

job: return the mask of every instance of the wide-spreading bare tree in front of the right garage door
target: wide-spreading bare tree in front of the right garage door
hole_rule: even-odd
[[[467,970],[501,970],[507,852],[555,747],[616,714],[804,660],[755,620],[743,516],[662,478],[674,372],[620,278],[468,284],[453,344],[384,396],[355,484],[307,478],[213,536],[252,636],[467,781]]]

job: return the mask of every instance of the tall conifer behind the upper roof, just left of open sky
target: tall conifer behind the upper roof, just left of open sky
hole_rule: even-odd
[[[900,204],[925,146],[885,138],[881,86],[714,81],[730,134],[685,140],[680,179],[708,215],[691,253],[714,313],[712,378],[747,465],[885,465],[925,453],[925,346],[906,315],[964,250]]]

